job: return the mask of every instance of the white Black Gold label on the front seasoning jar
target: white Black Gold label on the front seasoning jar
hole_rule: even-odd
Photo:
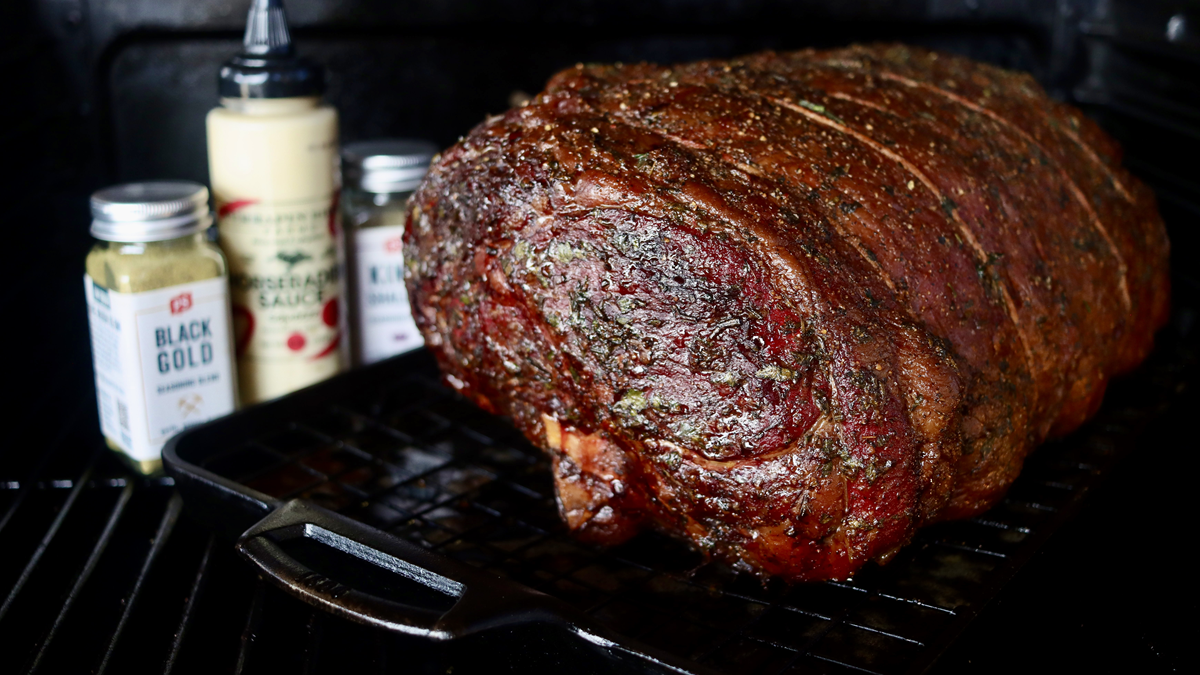
[[[101,431],[138,461],[233,412],[229,294],[218,276],[142,293],[84,275]]]

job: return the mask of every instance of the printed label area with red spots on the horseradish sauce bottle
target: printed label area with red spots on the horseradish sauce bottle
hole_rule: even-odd
[[[218,219],[242,400],[272,399],[341,370],[334,199],[233,202]]]

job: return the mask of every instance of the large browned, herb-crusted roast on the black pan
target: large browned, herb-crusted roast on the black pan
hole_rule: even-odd
[[[847,578],[1150,352],[1168,240],[1120,160],[1027,74],[911,47],[577,65],[434,162],[408,288],[578,537]]]

